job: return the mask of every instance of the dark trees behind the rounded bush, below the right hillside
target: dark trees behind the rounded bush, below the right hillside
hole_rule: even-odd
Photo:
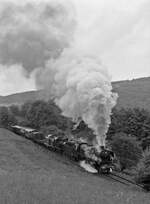
[[[139,108],[113,109],[108,139],[114,134],[124,132],[135,136],[138,140],[150,136],[150,113]]]

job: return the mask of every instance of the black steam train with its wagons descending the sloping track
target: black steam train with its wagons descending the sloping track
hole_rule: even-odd
[[[28,127],[14,125],[11,131],[32,140],[46,148],[59,152],[77,162],[85,161],[90,164],[98,173],[109,174],[113,171],[115,154],[100,147],[99,151],[93,145],[78,139],[68,138],[65,135],[43,133]]]

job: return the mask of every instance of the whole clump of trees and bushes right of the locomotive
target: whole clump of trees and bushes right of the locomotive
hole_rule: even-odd
[[[120,162],[138,183],[150,183],[150,112],[139,108],[113,109],[107,133]]]

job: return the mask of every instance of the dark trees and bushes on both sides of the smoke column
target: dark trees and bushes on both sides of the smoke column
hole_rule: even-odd
[[[37,100],[21,106],[0,107],[0,127],[12,124],[36,128],[44,134],[67,134],[87,137],[92,141],[93,133],[83,122],[73,130],[71,119],[61,115],[53,101]],[[118,158],[118,169],[135,175],[136,180],[148,178],[150,174],[150,112],[139,108],[114,109],[112,123],[107,134],[107,143]]]

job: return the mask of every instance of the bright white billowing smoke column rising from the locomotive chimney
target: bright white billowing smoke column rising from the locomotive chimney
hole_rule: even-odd
[[[96,135],[96,142],[105,145],[111,110],[116,104],[111,78],[99,59],[67,49],[57,60],[50,60],[37,78],[40,88],[49,89],[63,115],[79,118]]]

